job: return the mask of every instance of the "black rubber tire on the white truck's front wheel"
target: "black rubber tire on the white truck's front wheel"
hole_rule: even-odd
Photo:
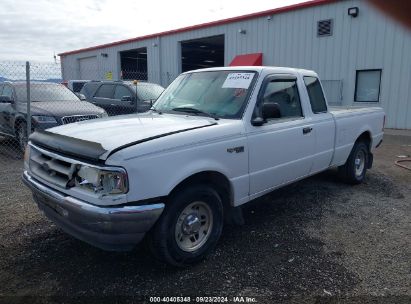
[[[182,232],[184,230],[183,227],[194,227],[185,225],[185,223],[192,224],[192,222],[194,222],[186,221],[187,218],[190,219],[190,215],[195,214],[197,211],[196,209],[190,209],[190,207],[193,206],[194,208],[196,206],[195,204],[200,203],[204,203],[204,205],[201,205],[201,208],[204,208],[204,210],[208,209],[208,214],[212,214],[210,216],[211,220],[209,220],[212,223],[211,227],[208,227],[207,237],[205,240],[203,239],[204,243],[199,243],[201,246],[198,248],[194,247],[191,251],[183,250],[182,247],[185,247],[187,244],[195,244],[189,236],[191,230],[185,231],[184,233]],[[187,208],[194,210],[194,213],[184,215],[187,214]],[[204,212],[204,210],[201,212]],[[183,211],[185,211],[184,214],[182,213]],[[197,215],[198,214],[200,214],[200,212],[197,213]],[[184,220],[181,220],[184,216]],[[192,216],[192,218],[193,217],[195,216]],[[202,217],[203,215],[201,215],[201,218]],[[200,216],[198,216],[197,219],[202,220]],[[217,191],[206,184],[188,186],[187,188],[179,190],[168,200],[160,219],[148,235],[150,250],[159,260],[170,265],[177,267],[192,265],[205,258],[215,247],[223,229],[223,222],[223,203]],[[200,225],[199,229],[207,230],[207,227],[203,227],[203,222],[200,222]],[[178,232],[181,234],[181,239],[177,235]],[[199,239],[204,235],[204,231],[201,232],[198,233]],[[185,238],[184,243],[181,241],[183,238]],[[186,242],[187,238],[190,238],[188,242]]]

